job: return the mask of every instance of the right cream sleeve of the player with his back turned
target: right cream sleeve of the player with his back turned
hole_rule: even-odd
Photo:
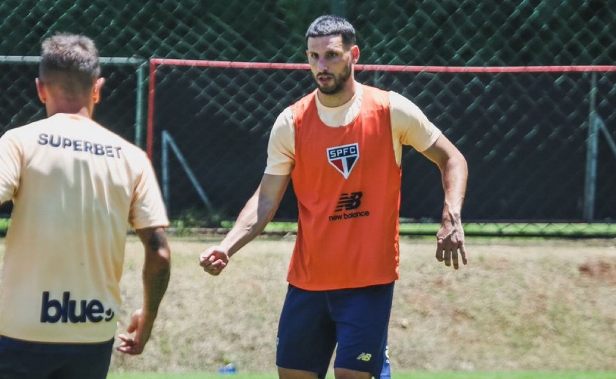
[[[129,222],[135,229],[169,225],[163,196],[152,163],[143,155],[143,170],[134,186]]]

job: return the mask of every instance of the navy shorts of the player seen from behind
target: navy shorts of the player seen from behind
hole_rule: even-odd
[[[113,338],[103,343],[39,343],[0,337],[2,379],[105,379]]]

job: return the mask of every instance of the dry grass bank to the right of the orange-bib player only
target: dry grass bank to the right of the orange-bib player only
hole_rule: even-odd
[[[400,367],[616,368],[616,283],[580,271],[595,262],[616,268],[614,241],[470,246],[469,266],[452,272],[426,246],[405,244],[413,259],[403,258],[390,329]]]

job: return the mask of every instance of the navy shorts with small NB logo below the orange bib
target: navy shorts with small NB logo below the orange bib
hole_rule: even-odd
[[[289,285],[278,324],[276,365],[325,378],[336,344],[334,368],[389,374],[387,327],[394,283],[306,291]]]

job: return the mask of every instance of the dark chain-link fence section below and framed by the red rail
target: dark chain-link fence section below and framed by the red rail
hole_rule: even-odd
[[[169,208],[177,212],[206,206],[207,201],[194,201],[201,190],[218,213],[237,214],[261,179],[272,123],[314,87],[310,72],[253,64],[211,68],[161,63],[155,71],[153,133],[164,130],[182,159],[168,154],[159,161],[156,152],[166,146],[163,139],[155,140],[155,163],[169,168],[163,178]],[[607,115],[604,123],[616,121],[611,111],[616,98],[610,96],[616,72],[366,69],[357,78],[415,101],[460,148],[470,167],[467,219],[585,218],[586,172],[593,162],[586,158],[589,110],[593,103],[596,114]],[[606,141],[599,138],[602,159],[596,160],[592,205],[592,218],[601,220],[614,217],[616,209],[616,176],[610,174],[616,172],[616,150]],[[443,195],[436,166],[412,149],[405,150],[402,165],[400,216],[439,219]],[[197,186],[185,169],[196,173]],[[296,216],[288,193],[278,217]]]

